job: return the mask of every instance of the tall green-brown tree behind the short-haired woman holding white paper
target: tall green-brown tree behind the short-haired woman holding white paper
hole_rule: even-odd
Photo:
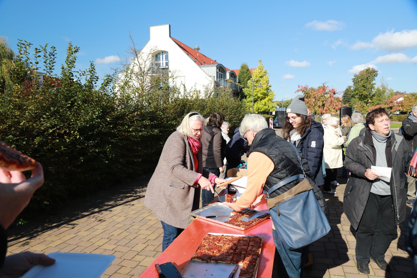
[[[357,98],[358,103],[354,105],[359,112],[366,112],[374,96],[375,78],[378,71],[374,68],[366,68],[355,74],[352,78],[352,93]]]

